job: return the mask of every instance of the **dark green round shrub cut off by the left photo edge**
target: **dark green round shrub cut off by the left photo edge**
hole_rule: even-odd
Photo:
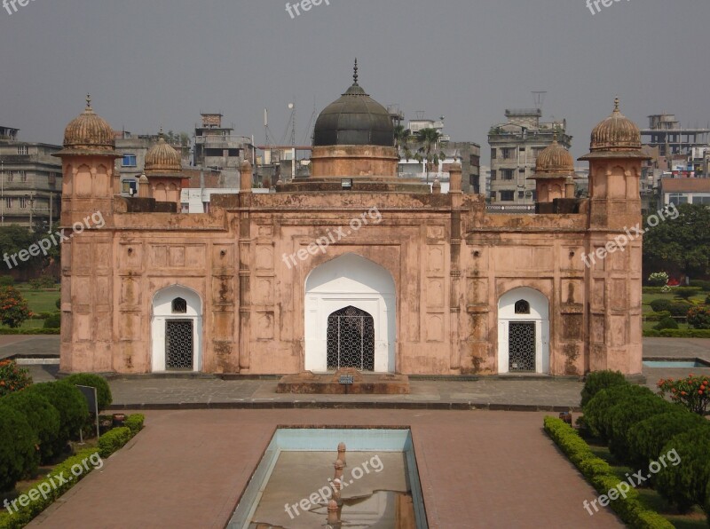
[[[37,470],[37,438],[22,414],[0,406],[0,491],[11,491]]]

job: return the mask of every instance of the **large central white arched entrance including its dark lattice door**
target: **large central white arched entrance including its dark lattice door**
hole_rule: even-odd
[[[305,369],[394,373],[395,303],[390,272],[364,257],[346,254],[313,270],[305,281]]]

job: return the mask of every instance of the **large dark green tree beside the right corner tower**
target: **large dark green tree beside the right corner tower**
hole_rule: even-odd
[[[690,277],[710,273],[710,208],[682,204],[678,217],[649,227],[643,235],[643,266],[675,269]]]

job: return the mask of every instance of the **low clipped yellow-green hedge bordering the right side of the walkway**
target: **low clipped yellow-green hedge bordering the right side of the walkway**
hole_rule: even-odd
[[[604,460],[592,453],[572,427],[555,417],[545,417],[545,431],[560,450],[570,458],[570,461],[580,470],[588,482],[595,487],[596,492],[606,494],[622,483]],[[673,525],[658,513],[647,510],[639,501],[635,488],[630,488],[626,498],[619,496],[611,500],[609,505],[619,517],[632,528],[638,529],[673,529]]]

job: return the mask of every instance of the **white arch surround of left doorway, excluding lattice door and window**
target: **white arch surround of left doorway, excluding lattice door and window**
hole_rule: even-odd
[[[187,311],[172,312],[172,302],[181,297],[187,302]],[[202,370],[202,300],[192,288],[172,285],[158,290],[151,307],[151,367],[154,373],[165,369],[165,322],[191,320],[193,322],[193,371]]]

